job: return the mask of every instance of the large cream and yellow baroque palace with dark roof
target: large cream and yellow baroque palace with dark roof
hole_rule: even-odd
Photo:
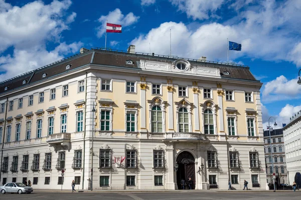
[[[248,66],[206,57],[82,48],[0,83],[1,181],[264,189],[261,85]]]

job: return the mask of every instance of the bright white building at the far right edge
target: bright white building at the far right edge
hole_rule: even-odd
[[[301,172],[301,110],[293,114],[282,129],[288,182],[292,184],[296,172]]]

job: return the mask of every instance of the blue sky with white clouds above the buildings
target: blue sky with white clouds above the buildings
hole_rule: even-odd
[[[249,65],[263,82],[264,126],[268,116],[288,122],[301,109],[300,0],[0,0],[0,80],[79,52],[107,47],[227,60],[227,38],[242,43],[230,61]],[[280,127],[279,125],[278,127]]]

